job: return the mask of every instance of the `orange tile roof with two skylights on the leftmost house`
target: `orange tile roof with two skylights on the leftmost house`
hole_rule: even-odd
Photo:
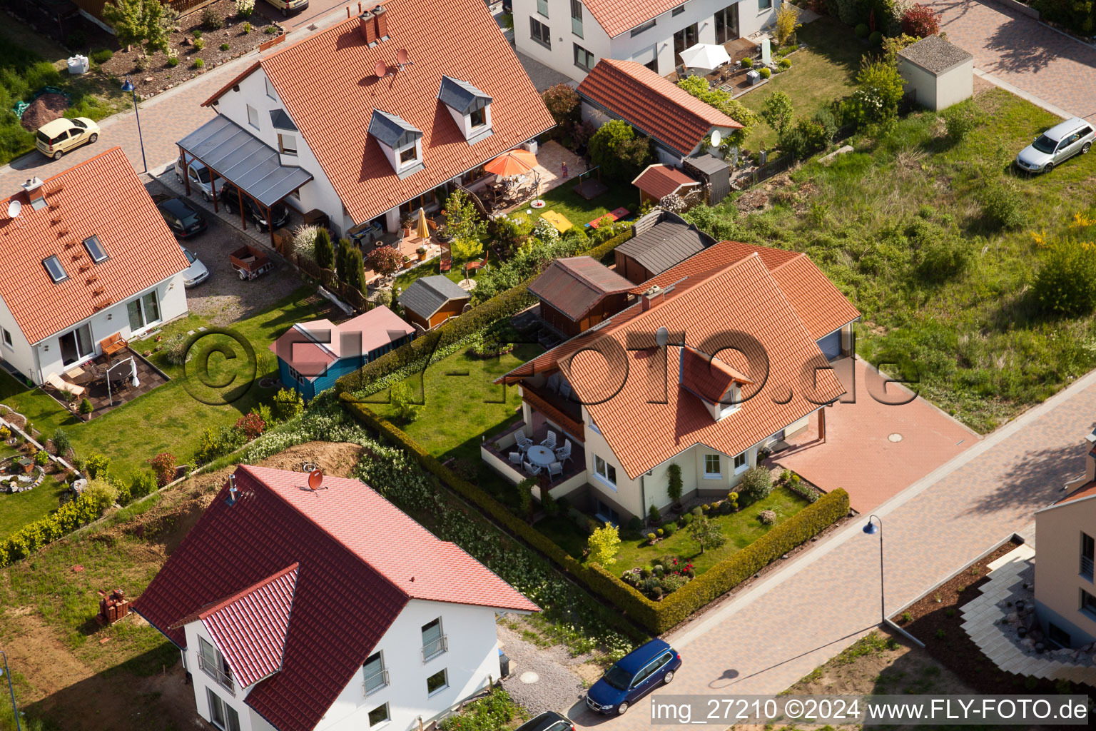
[[[54,175],[42,190],[47,205],[38,210],[22,191],[0,199],[0,210],[10,201],[23,204],[18,220],[0,220],[0,298],[31,343],[190,265],[121,147]],[[91,236],[110,259],[92,262],[83,247]],[[58,284],[42,264],[52,255],[69,275]]]

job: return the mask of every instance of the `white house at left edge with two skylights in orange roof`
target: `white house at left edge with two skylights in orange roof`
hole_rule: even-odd
[[[14,370],[42,384],[186,313],[190,263],[122,148],[21,187],[0,199],[0,357]]]

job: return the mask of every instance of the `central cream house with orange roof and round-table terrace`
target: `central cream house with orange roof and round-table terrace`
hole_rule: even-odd
[[[761,447],[844,392],[830,362],[852,353],[860,316],[803,254],[723,241],[632,293],[635,304],[498,381],[521,388],[515,430],[536,443],[555,431],[583,455],[585,469],[552,494],[589,500],[604,519],[667,506],[671,464],[686,494],[726,494]],[[513,438],[481,452],[521,479],[495,458]]]

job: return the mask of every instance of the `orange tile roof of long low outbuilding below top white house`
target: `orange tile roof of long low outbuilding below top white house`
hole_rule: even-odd
[[[636,61],[603,58],[582,80],[578,91],[683,156],[689,155],[712,127],[742,127]]]

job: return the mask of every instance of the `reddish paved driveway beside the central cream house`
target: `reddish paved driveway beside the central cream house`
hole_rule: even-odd
[[[864,361],[856,359],[855,385],[850,358],[834,365],[855,401],[846,397],[845,403],[823,410],[825,442],[819,439],[815,414],[807,433],[773,459],[826,492],[844,488],[856,511],[874,510],[981,438],[924,399],[893,406],[910,397],[897,384],[887,387],[892,402],[880,403],[871,392],[883,398],[881,381],[871,369],[875,382],[869,382]]]

